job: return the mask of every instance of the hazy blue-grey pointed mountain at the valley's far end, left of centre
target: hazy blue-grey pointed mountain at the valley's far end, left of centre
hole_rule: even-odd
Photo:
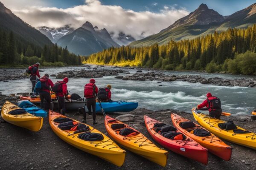
[[[67,46],[75,54],[85,56],[111,46],[119,47],[105,28],[101,30],[97,26],[93,28],[93,25],[88,21],[72,33],[61,37],[57,43],[62,47]]]

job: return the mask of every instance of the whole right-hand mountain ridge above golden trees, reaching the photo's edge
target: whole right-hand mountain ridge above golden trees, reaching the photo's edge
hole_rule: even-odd
[[[195,11],[175,21],[168,28],[129,45],[145,46],[156,42],[161,45],[170,40],[191,39],[230,27],[245,28],[253,23],[256,23],[256,3],[230,16],[222,16],[209,9],[206,4],[201,4]]]

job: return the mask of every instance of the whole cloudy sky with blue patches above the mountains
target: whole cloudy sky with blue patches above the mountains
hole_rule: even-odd
[[[146,37],[206,3],[222,15],[239,11],[255,0],[0,0],[14,14],[34,27],[78,28],[86,21],[116,34]],[[231,3],[232,2],[232,3]]]

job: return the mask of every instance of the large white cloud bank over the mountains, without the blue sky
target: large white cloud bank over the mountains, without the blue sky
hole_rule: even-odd
[[[13,1],[13,0],[3,0]],[[21,0],[22,2],[31,0]],[[119,31],[141,39],[156,34],[170,26],[177,19],[189,14],[185,8],[165,6],[158,13],[151,11],[133,11],[121,6],[103,5],[99,0],[85,0],[84,5],[70,8],[44,7],[40,0],[33,0],[31,6],[7,6],[14,14],[34,27],[48,26],[58,28],[70,24],[79,28],[89,21],[93,26],[106,28],[117,36]],[[5,2],[3,2],[5,4]],[[142,36],[143,35],[143,36]]]

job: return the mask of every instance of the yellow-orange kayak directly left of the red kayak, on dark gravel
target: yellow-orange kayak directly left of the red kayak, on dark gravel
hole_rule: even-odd
[[[163,167],[166,166],[168,152],[157,147],[136,129],[113,119],[110,116],[105,117],[105,127],[112,139],[126,149],[143,156],[150,161],[160,164]]]

